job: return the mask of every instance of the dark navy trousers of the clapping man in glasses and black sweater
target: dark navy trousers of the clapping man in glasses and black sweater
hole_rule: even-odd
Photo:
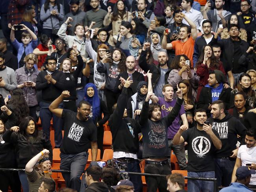
[[[53,128],[54,128],[54,140],[55,140],[55,146],[60,147],[62,142],[62,119],[50,112],[49,106],[50,103],[46,102],[40,102],[40,118],[41,118],[41,124],[43,132],[45,133],[46,137],[50,139],[50,123],[51,118],[53,120]],[[59,105],[59,108],[63,108],[63,104],[61,103]]]

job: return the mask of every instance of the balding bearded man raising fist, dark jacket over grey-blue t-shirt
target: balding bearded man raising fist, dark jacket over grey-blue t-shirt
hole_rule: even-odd
[[[141,56],[139,57],[139,66],[143,71],[152,73],[152,88],[154,90],[154,94],[157,97],[163,97],[162,89],[163,85],[168,84],[167,78],[169,77],[169,73],[171,72],[171,68],[167,65],[168,56],[165,52],[158,53],[158,63],[159,65],[150,65],[146,61],[147,57],[147,48],[150,48],[150,43],[146,42],[143,45]]]

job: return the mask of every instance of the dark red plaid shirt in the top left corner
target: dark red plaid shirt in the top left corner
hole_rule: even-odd
[[[11,23],[12,26],[14,24],[19,24],[22,21],[22,15],[25,8],[29,3],[30,0],[11,0],[7,13],[8,23]]]

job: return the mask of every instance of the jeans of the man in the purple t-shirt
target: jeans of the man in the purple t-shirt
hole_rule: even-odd
[[[174,154],[176,155],[180,170],[187,170],[187,160],[185,157],[184,143],[173,145],[173,140],[168,139],[168,146],[171,150],[173,150]],[[171,165],[171,158],[168,158],[168,161]]]

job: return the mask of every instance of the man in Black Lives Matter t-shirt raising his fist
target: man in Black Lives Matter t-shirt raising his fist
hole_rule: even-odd
[[[64,137],[61,145],[61,170],[71,170],[69,173],[63,173],[67,187],[80,191],[80,177],[85,168],[88,159],[88,148],[91,144],[92,163],[97,164],[96,156],[97,146],[97,128],[95,124],[88,119],[91,106],[87,101],[81,101],[78,104],[77,113],[58,108],[63,99],[70,97],[69,91],[65,90],[54,100],[49,109],[56,116],[64,121]]]

